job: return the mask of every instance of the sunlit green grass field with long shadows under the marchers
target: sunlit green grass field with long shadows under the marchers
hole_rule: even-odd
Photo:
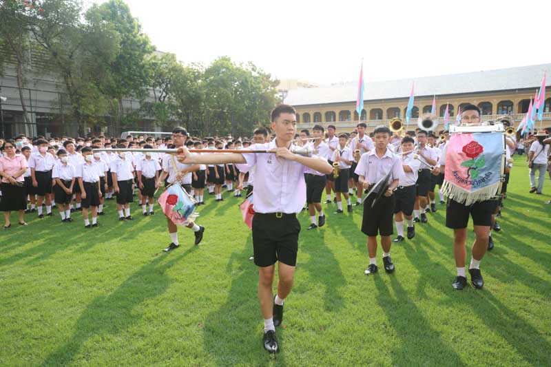
[[[524,158],[515,165],[503,229],[481,262],[481,291],[451,287],[444,205],[417,224],[413,240],[393,247],[396,272],[375,277],[364,275],[361,208],[335,216],[336,205],[324,205],[327,223],[316,231],[306,231],[300,214],[277,359],[262,348],[240,199],[208,196],[202,244],[181,229],[180,248],[169,254],[158,208],[145,218],[134,204],[135,219],[118,222],[109,201],[101,227],[89,230],[80,213],[72,224],[28,216],[28,227],[0,232],[0,365],[550,366],[551,182],[544,195],[529,194]]]

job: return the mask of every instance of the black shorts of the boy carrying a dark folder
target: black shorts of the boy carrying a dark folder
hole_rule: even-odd
[[[394,211],[394,195],[382,195],[375,206],[372,208],[371,203],[375,199],[375,193],[372,193],[364,201],[364,217],[362,218],[362,232],[369,236],[391,235],[393,234],[393,211]]]

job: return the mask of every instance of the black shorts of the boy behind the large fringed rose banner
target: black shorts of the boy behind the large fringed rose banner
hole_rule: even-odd
[[[490,226],[492,214],[495,211],[497,200],[484,200],[466,206],[453,199],[448,199],[446,204],[446,227],[452,229],[466,228],[469,215],[475,226]]]

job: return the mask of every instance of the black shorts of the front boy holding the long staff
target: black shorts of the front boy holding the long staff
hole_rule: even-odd
[[[253,251],[256,266],[271,266],[276,261],[289,266],[297,263],[300,223],[295,214],[255,213],[253,217]]]

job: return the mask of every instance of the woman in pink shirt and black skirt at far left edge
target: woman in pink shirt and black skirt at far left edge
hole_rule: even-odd
[[[4,229],[12,227],[10,213],[19,211],[19,224],[26,226],[23,219],[23,211],[27,207],[25,198],[25,187],[23,187],[23,174],[27,171],[28,164],[24,156],[15,154],[15,143],[13,140],[6,140],[1,150],[3,156],[0,158],[0,177],[2,178],[0,188],[2,198],[0,200],[0,211],[4,212]]]

